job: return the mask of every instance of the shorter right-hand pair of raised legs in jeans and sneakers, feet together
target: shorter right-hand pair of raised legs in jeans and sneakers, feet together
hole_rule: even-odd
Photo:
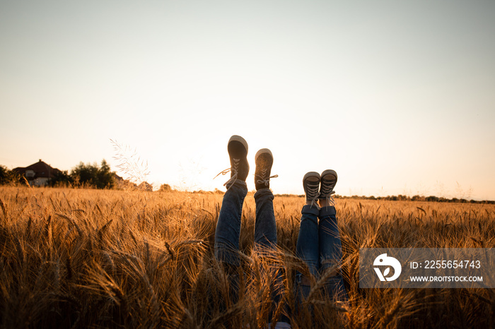
[[[336,210],[332,194],[337,184],[337,173],[325,170],[322,174],[308,172],[303,178],[306,204],[301,210],[296,252],[308,265],[310,275],[317,280],[325,275],[325,290],[330,297],[347,300],[344,280],[339,274],[342,262],[342,244],[337,227]],[[328,272],[330,271],[330,272]],[[296,275],[298,297],[308,297],[309,277]]]

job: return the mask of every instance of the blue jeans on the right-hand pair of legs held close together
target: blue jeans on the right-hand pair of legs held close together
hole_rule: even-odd
[[[318,209],[314,205],[304,205],[301,210],[301,227],[296,245],[299,257],[308,265],[311,275],[318,280],[328,268],[334,268],[342,263],[342,244],[337,227],[337,217],[334,206]],[[320,222],[318,222],[318,219]],[[310,287],[302,282],[302,274],[296,275],[298,296],[307,297]],[[339,300],[347,300],[342,275],[327,279],[327,293]]]

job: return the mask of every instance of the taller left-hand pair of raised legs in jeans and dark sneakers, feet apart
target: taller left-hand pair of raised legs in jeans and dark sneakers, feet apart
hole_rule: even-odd
[[[219,220],[216,223],[214,252],[215,257],[221,261],[229,273],[231,284],[231,299],[237,299],[238,268],[241,265],[239,254],[240,221],[243,213],[243,203],[248,187],[249,164],[247,160],[248,143],[240,136],[232,136],[228,142],[228,154],[231,158],[231,168],[222,172],[231,172],[231,179],[226,182],[227,191],[223,196]],[[255,250],[264,253],[276,248],[276,220],[273,208],[274,195],[269,189],[269,179],[272,170],[273,156],[270,150],[259,150],[255,156]],[[280,274],[274,277],[275,285],[281,280]],[[274,305],[280,301],[280,294],[272,293]],[[282,316],[284,318],[284,316]],[[270,312],[269,323],[272,322]],[[284,321],[282,319],[282,321]]]

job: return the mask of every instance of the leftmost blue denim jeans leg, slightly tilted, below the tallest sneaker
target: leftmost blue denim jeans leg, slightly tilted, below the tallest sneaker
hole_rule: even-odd
[[[240,219],[243,215],[243,203],[248,186],[239,179],[227,186],[223,195],[219,220],[215,230],[215,257],[219,261],[238,266]]]

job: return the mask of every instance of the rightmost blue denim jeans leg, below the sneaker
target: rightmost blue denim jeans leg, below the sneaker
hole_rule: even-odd
[[[337,227],[335,207],[330,205],[321,208],[319,218],[320,272],[325,273],[328,268],[342,265],[342,242]],[[329,277],[327,291],[340,300],[348,299],[340,270],[336,275]]]

